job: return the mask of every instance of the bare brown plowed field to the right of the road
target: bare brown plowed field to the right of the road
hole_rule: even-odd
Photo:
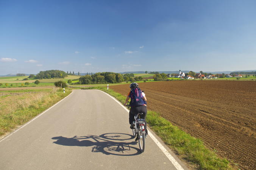
[[[256,169],[255,81],[140,83],[147,107],[243,170]],[[127,95],[129,85],[109,86]]]

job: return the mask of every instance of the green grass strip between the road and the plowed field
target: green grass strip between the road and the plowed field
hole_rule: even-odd
[[[98,89],[102,90],[120,102],[124,103],[126,97],[107,90],[105,87],[85,87],[81,89]],[[200,170],[231,170],[231,166],[226,159],[219,158],[217,154],[209,150],[203,145],[200,139],[192,137],[178,127],[173,126],[168,120],[162,118],[160,114],[148,111],[147,123],[151,129],[164,141],[164,143],[172,148],[178,155],[186,161],[198,165]]]

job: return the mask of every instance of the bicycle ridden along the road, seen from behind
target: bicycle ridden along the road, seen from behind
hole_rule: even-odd
[[[144,152],[145,150],[145,119],[140,119],[140,115],[143,113],[138,113],[137,115],[134,116],[135,119],[135,125],[132,129],[133,131],[133,136],[135,138],[135,142],[139,140],[139,147],[140,151]]]

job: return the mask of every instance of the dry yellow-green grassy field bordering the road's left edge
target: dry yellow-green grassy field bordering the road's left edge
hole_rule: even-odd
[[[28,122],[70,94],[62,89],[27,89],[0,91],[0,136]]]

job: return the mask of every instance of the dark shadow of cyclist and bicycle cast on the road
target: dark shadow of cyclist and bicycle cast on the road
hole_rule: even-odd
[[[133,139],[133,136],[124,133],[105,133],[100,136],[87,135],[70,138],[58,136],[52,137],[52,139],[55,139],[56,141],[53,143],[58,145],[92,147],[92,152],[101,152],[107,155],[133,156],[141,153],[140,150],[136,148],[137,142],[125,142],[126,140]]]

